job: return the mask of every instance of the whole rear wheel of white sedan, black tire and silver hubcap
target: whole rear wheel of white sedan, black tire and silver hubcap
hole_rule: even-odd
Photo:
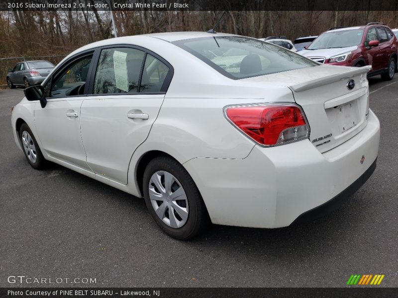
[[[151,160],[144,172],[143,191],[152,218],[173,238],[193,238],[209,224],[194,180],[176,160]]]

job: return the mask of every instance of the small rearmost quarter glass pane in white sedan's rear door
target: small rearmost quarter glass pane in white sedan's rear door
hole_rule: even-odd
[[[140,92],[160,92],[169,68],[150,54],[146,55]]]

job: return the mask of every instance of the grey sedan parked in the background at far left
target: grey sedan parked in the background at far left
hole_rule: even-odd
[[[7,84],[11,89],[17,85],[25,88],[38,85],[53,69],[54,65],[45,60],[19,62],[13,69],[8,70]]]

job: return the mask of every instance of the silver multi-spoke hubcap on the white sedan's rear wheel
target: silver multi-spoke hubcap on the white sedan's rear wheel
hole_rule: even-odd
[[[161,221],[173,228],[187,223],[189,206],[181,183],[171,173],[157,171],[149,180],[149,198]]]

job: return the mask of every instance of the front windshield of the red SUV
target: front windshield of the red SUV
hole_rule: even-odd
[[[338,30],[325,32],[318,36],[307,50],[346,48],[357,46],[361,43],[363,29]]]

